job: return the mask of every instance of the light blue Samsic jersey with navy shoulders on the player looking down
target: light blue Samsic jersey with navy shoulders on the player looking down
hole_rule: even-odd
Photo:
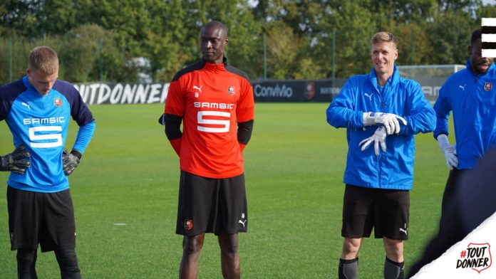
[[[56,80],[41,96],[26,76],[0,87],[0,121],[6,120],[14,146],[22,144],[31,153],[31,166],[25,174],[11,172],[9,186],[46,193],[68,189],[62,151],[71,117],[80,126],[73,149],[83,154],[93,136],[95,120],[73,85]]]

